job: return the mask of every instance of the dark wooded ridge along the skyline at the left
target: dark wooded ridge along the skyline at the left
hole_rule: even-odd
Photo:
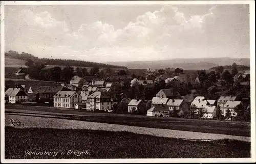
[[[60,65],[60,66],[76,66],[76,67],[103,67],[103,68],[126,68],[123,66],[114,66],[103,63],[87,62],[87,61],[78,61],[78,60],[63,60],[63,59],[47,59],[47,58],[38,58],[33,56],[30,53],[18,53],[17,51],[9,50],[5,52],[5,57],[12,59],[20,59],[24,61],[32,60],[33,62],[40,62],[45,65]]]

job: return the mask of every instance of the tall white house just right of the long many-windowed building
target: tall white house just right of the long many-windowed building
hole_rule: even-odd
[[[111,98],[99,91],[88,96],[86,103],[87,111],[107,111],[111,109]]]

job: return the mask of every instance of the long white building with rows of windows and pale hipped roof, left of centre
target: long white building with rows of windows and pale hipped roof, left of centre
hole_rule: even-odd
[[[75,104],[82,102],[82,97],[76,91],[58,91],[54,95],[54,107],[75,108]]]

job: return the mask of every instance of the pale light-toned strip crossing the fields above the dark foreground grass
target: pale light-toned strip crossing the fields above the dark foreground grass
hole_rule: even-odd
[[[185,140],[220,140],[230,139],[250,142],[250,137],[235,136],[225,134],[201,133],[192,131],[169,130],[169,129],[156,129],[147,127],[106,124],[97,122],[86,122],[76,120],[65,120],[57,118],[41,118],[33,116],[17,116],[5,115],[5,125],[10,126],[9,119],[20,121],[25,124],[25,127],[41,127],[41,128],[60,128],[60,129],[91,129],[91,130],[107,130],[107,131],[129,131],[139,134],[148,134],[155,136],[162,136],[167,138],[179,138]]]

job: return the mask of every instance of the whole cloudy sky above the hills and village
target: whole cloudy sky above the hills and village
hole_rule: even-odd
[[[249,5],[5,6],[5,51],[39,58],[249,58],[249,36]]]

